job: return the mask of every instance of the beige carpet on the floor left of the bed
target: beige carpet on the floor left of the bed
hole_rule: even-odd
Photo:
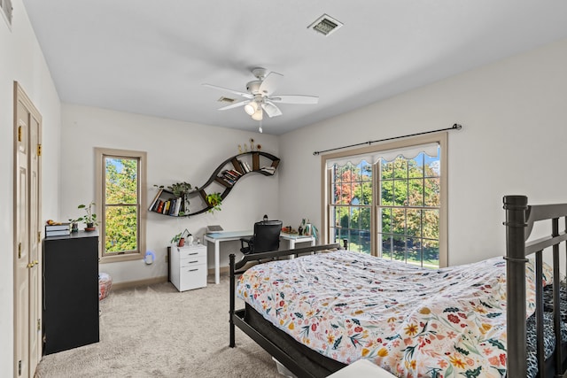
[[[229,348],[227,277],[183,293],[169,282],[113,290],[100,309],[100,342],[43,356],[37,378],[283,378],[238,328]]]

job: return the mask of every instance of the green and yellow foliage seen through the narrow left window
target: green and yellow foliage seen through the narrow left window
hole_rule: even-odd
[[[105,251],[138,249],[138,160],[105,158]]]

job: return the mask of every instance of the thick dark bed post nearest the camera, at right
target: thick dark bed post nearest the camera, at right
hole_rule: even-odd
[[[506,291],[507,291],[507,372],[508,377],[524,377],[525,349],[525,228],[528,198],[506,196]]]

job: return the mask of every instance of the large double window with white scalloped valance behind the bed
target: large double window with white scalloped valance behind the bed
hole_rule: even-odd
[[[323,156],[327,241],[447,266],[446,140],[443,133]]]

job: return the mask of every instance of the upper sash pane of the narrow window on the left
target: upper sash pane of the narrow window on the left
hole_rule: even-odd
[[[105,158],[105,203],[137,204],[138,160]]]

